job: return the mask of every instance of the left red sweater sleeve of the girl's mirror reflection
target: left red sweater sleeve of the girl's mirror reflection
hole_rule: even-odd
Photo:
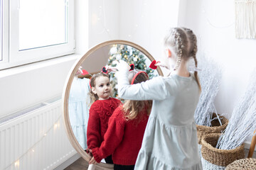
[[[97,106],[96,106],[97,107]],[[91,106],[87,125],[87,146],[89,149],[100,147],[100,117],[95,111],[95,106]]]

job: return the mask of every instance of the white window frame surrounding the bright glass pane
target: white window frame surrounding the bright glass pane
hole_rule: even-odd
[[[5,3],[9,3],[9,8],[4,4],[4,9],[9,13],[9,16],[4,16],[4,20],[9,22],[4,24],[4,45],[9,44],[7,52],[4,50],[4,60],[0,62],[0,70],[9,67],[16,67],[23,64],[32,62],[38,62],[42,60],[48,60],[63,55],[70,55],[75,52],[75,40],[74,40],[74,0],[67,0],[68,5],[68,42],[59,45],[50,45],[46,47],[38,47],[30,50],[19,50],[18,47],[18,8],[19,0],[4,0]],[[8,11],[9,10],[9,11]],[[9,33],[6,31],[9,30]],[[9,42],[8,42],[9,40]],[[7,58],[7,59],[6,59]]]

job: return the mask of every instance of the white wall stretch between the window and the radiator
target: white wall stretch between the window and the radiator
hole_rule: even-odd
[[[77,56],[38,62],[0,72],[0,118],[60,96]]]

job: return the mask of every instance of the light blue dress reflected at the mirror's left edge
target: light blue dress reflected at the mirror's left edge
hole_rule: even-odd
[[[74,77],[70,96],[68,98],[68,113],[70,118],[70,125],[82,149],[87,148],[87,123],[89,119],[89,103],[90,79],[78,79]]]

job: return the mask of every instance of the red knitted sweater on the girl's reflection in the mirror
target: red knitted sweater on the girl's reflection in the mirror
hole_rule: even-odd
[[[100,147],[107,131],[110,116],[120,103],[121,101],[116,98],[97,100],[92,103],[87,125],[87,146],[89,149]]]

